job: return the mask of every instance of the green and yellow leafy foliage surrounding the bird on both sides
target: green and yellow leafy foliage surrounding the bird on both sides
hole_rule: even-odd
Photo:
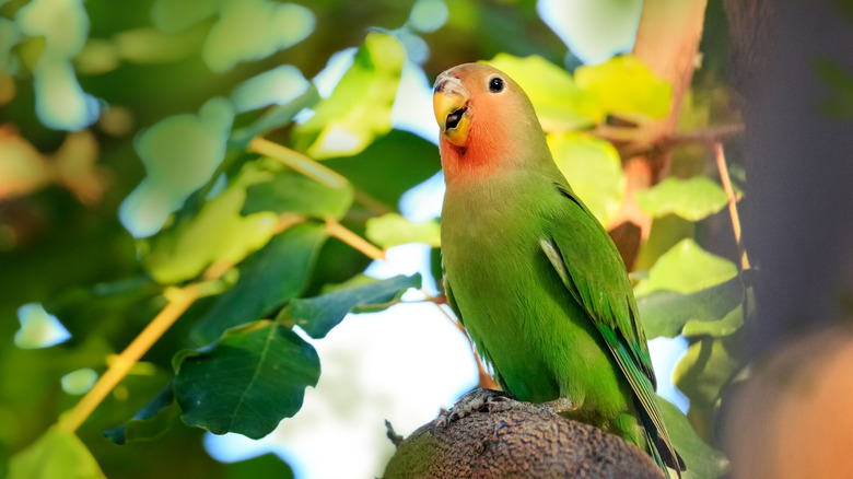
[[[528,92],[558,166],[603,224],[632,201],[620,145],[597,130],[653,122],[673,104],[636,58],[556,65],[565,47],[537,36],[535,2],[451,2],[444,26],[416,15],[435,7],[424,1],[367,2],[367,24],[344,1],[314,3],[0,1],[0,472],[8,459],[12,478],[289,474],[274,457],[214,463],[190,427],[266,436],[317,384],[313,341],[421,288],[419,274],[362,274],[389,247],[440,246],[439,221],[399,211],[440,170],[433,144],[393,128],[416,62],[434,77],[491,58]],[[44,13],[54,7],[68,10],[61,28]],[[471,46],[449,48],[448,37]],[[335,63],[334,87],[308,81],[332,54],[351,55]],[[699,225],[675,241],[652,231],[636,295],[650,339],[689,338],[676,381],[713,418],[738,370],[750,282],[700,246],[727,195],[687,176],[636,195],[651,217]],[[182,308],[187,291],[196,295]],[[116,359],[165,312],[175,325],[141,361]],[[94,370],[106,381],[121,361],[129,370],[81,417],[62,377]],[[720,475],[706,430],[664,410],[688,464],[704,457],[699,469]]]

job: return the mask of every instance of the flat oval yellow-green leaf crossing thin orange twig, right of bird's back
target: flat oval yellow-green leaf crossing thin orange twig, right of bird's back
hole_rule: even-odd
[[[640,209],[654,218],[669,213],[699,221],[722,210],[728,203],[723,187],[704,176],[690,179],[668,177],[652,188],[636,192]]]

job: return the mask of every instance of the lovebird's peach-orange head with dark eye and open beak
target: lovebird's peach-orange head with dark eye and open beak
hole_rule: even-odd
[[[433,109],[448,179],[457,172],[488,173],[510,166],[525,160],[531,144],[534,150],[545,145],[545,133],[522,87],[484,63],[465,63],[441,73],[433,87]]]

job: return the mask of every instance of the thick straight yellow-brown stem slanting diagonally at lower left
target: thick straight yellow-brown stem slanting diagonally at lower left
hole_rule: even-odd
[[[190,284],[183,289],[166,290],[164,294],[168,299],[166,307],[109,364],[104,375],[97,379],[97,383],[80,399],[74,408],[59,420],[57,429],[69,433],[77,431],[101,401],[106,398],[107,394],[127,375],[130,367],[151,349],[154,342],[198,299],[198,288],[196,284]]]

